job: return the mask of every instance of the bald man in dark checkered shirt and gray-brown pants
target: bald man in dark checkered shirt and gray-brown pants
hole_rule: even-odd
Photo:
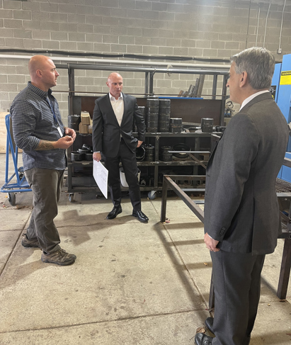
[[[65,151],[76,133],[64,128],[52,86],[59,74],[50,57],[35,55],[28,64],[31,81],[16,96],[11,105],[13,137],[23,149],[25,178],[33,191],[33,213],[23,247],[42,249],[43,262],[61,266],[74,264],[76,256],[59,246],[59,232],[55,227],[57,202],[67,166]]]

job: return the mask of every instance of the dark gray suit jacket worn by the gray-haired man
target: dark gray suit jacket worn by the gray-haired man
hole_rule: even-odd
[[[275,181],[288,140],[286,120],[269,93],[229,122],[207,165],[205,232],[224,251],[272,253],[280,233]]]

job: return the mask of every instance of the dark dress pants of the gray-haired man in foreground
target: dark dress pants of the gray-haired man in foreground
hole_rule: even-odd
[[[248,345],[256,319],[265,255],[210,251],[215,288],[212,345]]]

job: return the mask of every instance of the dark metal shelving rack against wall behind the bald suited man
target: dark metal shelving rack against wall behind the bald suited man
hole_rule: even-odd
[[[59,67],[58,67],[59,68]],[[62,65],[64,68],[64,65]],[[96,99],[96,96],[76,96],[76,94],[82,94],[75,90],[75,70],[76,69],[91,69],[91,70],[108,70],[108,71],[130,71],[130,72],[144,72],[145,79],[144,79],[144,95],[154,95],[154,74],[156,73],[171,73],[171,74],[208,74],[213,76],[213,83],[212,83],[212,96],[210,100],[202,100],[205,103],[212,103],[214,107],[219,106],[219,116],[217,118],[218,123],[216,125],[223,125],[224,124],[224,103],[227,99],[226,95],[226,85],[227,85],[227,71],[218,71],[215,69],[165,69],[165,68],[154,68],[154,67],[125,67],[125,66],[113,66],[113,65],[95,65],[95,64],[68,64],[68,75],[69,75],[69,115],[80,113],[81,111],[89,111],[89,113],[93,113],[93,105]],[[223,86],[222,86],[222,95],[221,101],[216,100],[216,93],[217,93],[217,77],[219,75],[223,76]],[[86,93],[85,93],[86,94]],[[191,98],[187,98],[187,100],[178,99],[178,107],[183,108],[183,105],[189,108],[189,103],[187,102],[193,101]],[[146,96],[144,98],[137,99],[139,106],[144,106],[146,103]],[[200,101],[200,100],[195,100]],[[217,103],[218,102],[218,103]],[[200,103],[199,103],[200,104]],[[212,108],[213,108],[212,106]],[[193,107],[192,107],[193,108]],[[191,108],[191,110],[192,110]],[[189,111],[189,110],[188,110]],[[205,114],[203,117],[208,117]],[[199,162],[195,160],[187,160],[187,161],[176,161],[176,162],[161,162],[157,157],[159,157],[159,147],[162,145],[161,141],[169,140],[169,138],[193,138],[193,145],[195,151],[200,150],[200,139],[203,137],[211,137],[212,133],[202,133],[202,132],[182,132],[179,134],[173,134],[170,132],[166,133],[146,133],[146,143],[153,142],[154,140],[154,147],[155,147],[155,161],[154,162],[137,162],[139,167],[147,166],[151,169],[154,169],[154,183],[153,186],[141,186],[141,191],[150,191],[149,197],[154,198],[156,191],[161,191],[162,186],[159,186],[159,171],[161,171],[161,167],[163,166],[193,166],[193,174],[198,174],[198,166]],[[84,139],[86,138],[86,139]],[[151,139],[154,138],[154,139]],[[96,186],[95,181],[93,180],[92,176],[92,167],[93,162],[72,162],[71,160],[71,151],[77,148],[80,148],[80,141],[85,140],[86,142],[90,142],[91,135],[79,135],[77,133],[77,139],[74,142],[73,147],[68,149],[68,177],[67,177],[67,188],[69,193],[69,200],[74,200],[74,193],[78,192],[85,192],[96,190],[98,191],[98,187]],[[78,144],[79,142],[79,144]],[[79,145],[79,147],[78,147]],[[197,157],[197,154],[195,154]],[[207,164],[207,161],[201,161],[202,164]],[[122,188],[122,191],[127,191],[128,188]],[[189,188],[192,191],[192,188]],[[196,191],[200,191],[199,188],[195,189]],[[202,190],[201,190],[202,191]]]

